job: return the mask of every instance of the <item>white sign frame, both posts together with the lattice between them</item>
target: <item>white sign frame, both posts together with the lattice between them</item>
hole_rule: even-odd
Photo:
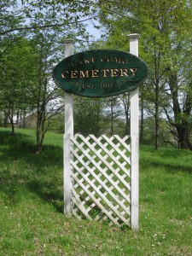
[[[138,56],[138,34],[129,38],[130,53]],[[65,44],[65,56],[73,55],[73,40],[67,39]],[[137,231],[138,88],[130,96],[130,137],[73,137],[73,95],[65,92],[64,212],[110,225],[127,224]]]

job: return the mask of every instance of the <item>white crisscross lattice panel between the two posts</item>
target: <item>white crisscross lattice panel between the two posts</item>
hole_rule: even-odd
[[[130,226],[130,137],[71,138],[72,212]]]

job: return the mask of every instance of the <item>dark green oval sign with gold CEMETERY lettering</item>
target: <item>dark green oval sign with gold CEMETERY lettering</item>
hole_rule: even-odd
[[[79,96],[114,96],[134,90],[147,78],[143,60],[119,50],[96,49],[71,55],[54,68],[54,80]]]

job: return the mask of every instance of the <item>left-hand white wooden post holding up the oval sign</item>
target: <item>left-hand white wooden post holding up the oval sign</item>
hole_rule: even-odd
[[[65,58],[73,55],[73,39],[65,40]],[[70,166],[70,137],[73,137],[73,94],[65,92],[65,133],[63,139],[64,148],[64,212],[67,216],[72,212],[72,178]]]

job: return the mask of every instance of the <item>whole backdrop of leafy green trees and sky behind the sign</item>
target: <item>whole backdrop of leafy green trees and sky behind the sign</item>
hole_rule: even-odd
[[[192,149],[190,1],[23,0],[0,1],[0,9],[1,123],[11,125],[12,134],[15,125],[25,127],[30,115],[35,116],[40,152],[46,131],[62,130],[63,91],[53,83],[52,71],[64,57],[64,39],[74,39],[75,51],[129,52],[127,35],[139,33],[139,55],[149,70],[140,87],[140,140],[156,149]],[[98,29],[100,39],[89,35],[86,22]],[[74,112],[75,131],[84,135],[129,133],[128,95],[96,100],[77,96]]]

